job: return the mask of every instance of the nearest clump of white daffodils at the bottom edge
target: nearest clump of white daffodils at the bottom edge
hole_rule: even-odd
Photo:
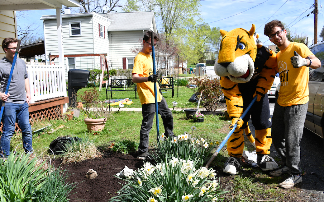
[[[112,197],[111,202],[148,201],[218,201],[223,198],[215,179],[215,170],[199,167],[197,160],[172,160],[157,164],[146,162],[133,179],[124,179],[125,186]],[[156,200],[158,199],[158,200]]]

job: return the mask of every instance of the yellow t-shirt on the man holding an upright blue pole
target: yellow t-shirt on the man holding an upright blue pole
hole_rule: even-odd
[[[134,67],[132,74],[138,74],[140,77],[148,77],[153,74],[153,59],[151,55],[139,52],[134,59]],[[141,104],[155,103],[154,83],[151,81],[137,83],[137,93],[140,97]],[[157,90],[157,101],[162,100],[162,95]]]

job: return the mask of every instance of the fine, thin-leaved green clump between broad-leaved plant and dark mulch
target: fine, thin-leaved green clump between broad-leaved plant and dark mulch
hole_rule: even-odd
[[[45,178],[42,186],[35,193],[34,202],[68,202],[71,191],[79,184],[66,182],[69,175],[66,170],[56,169]]]

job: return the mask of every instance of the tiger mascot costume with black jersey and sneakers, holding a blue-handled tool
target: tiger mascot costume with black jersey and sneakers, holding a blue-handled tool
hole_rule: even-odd
[[[257,164],[263,171],[274,170],[278,164],[270,154],[271,117],[268,101],[274,76],[276,53],[264,47],[255,33],[255,25],[249,31],[236,28],[229,32],[220,30],[222,35],[215,73],[220,76],[220,85],[226,99],[227,112],[232,120],[230,128],[237,128],[227,142],[228,159],[223,172],[236,175],[240,167],[240,157],[244,148],[244,129],[250,115],[255,127],[255,146]],[[239,117],[253,98],[256,102],[242,119]],[[247,134],[250,135],[250,134]]]

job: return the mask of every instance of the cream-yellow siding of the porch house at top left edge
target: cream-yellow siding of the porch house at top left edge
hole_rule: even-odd
[[[17,26],[16,26],[16,13],[15,11],[1,11],[0,12],[0,40],[7,37],[17,38]],[[5,57],[6,54],[2,48],[0,48],[0,58]]]

